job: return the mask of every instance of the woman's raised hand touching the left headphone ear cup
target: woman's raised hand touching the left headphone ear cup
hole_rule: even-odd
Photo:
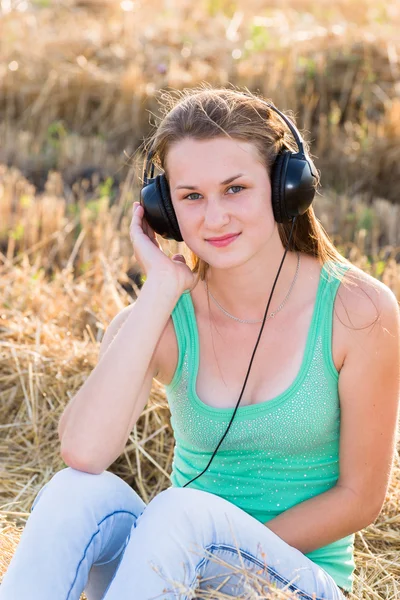
[[[195,277],[185,258],[181,254],[175,254],[172,258],[164,254],[154,230],[144,218],[144,208],[139,202],[133,203],[129,233],[135,257],[146,278],[167,278],[180,293],[192,288]]]

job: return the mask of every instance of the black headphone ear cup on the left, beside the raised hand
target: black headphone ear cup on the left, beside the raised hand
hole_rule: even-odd
[[[164,175],[149,179],[142,187],[140,204],[146,221],[156,233],[166,239],[183,241]]]

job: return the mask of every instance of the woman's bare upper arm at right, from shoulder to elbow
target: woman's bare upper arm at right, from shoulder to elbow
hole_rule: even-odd
[[[374,289],[365,288],[370,295]],[[354,343],[339,375],[340,477],[376,518],[382,509],[396,450],[400,399],[400,311],[393,292],[379,285],[375,307],[364,299]],[[368,304],[367,304],[368,302]],[[369,310],[366,308],[369,306]],[[369,324],[379,311],[379,320]],[[368,325],[368,326],[367,326]],[[373,520],[373,519],[372,519]]]

